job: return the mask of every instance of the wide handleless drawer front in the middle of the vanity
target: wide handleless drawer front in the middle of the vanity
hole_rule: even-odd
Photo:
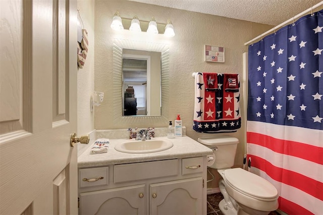
[[[178,159],[115,165],[115,183],[176,176]]]

